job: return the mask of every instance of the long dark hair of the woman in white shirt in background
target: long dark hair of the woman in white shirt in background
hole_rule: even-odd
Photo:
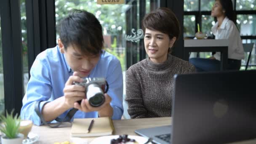
[[[219,2],[222,5],[222,9],[225,11],[225,16],[235,23],[235,12],[233,11],[232,0],[219,0]]]

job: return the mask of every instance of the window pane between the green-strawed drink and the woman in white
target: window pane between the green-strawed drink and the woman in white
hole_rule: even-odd
[[[209,15],[202,15],[202,32],[212,37],[211,27],[215,24],[214,18]]]

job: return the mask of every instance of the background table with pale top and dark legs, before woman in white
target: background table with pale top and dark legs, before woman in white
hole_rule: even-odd
[[[184,60],[189,60],[189,52],[221,52],[220,70],[227,69],[228,40],[184,40]]]

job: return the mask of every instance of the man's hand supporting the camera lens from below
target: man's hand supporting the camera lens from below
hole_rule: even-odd
[[[107,93],[104,93],[104,96],[105,96],[105,102],[99,107],[92,107],[89,104],[88,99],[83,99],[81,102],[81,105],[75,102],[75,108],[83,112],[97,111],[100,117],[106,117],[106,116],[112,117],[113,108],[110,106],[110,102],[112,99]]]

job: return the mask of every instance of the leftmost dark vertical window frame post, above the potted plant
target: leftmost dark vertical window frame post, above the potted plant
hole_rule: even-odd
[[[5,110],[19,114],[24,95],[20,0],[0,0],[0,14]]]

